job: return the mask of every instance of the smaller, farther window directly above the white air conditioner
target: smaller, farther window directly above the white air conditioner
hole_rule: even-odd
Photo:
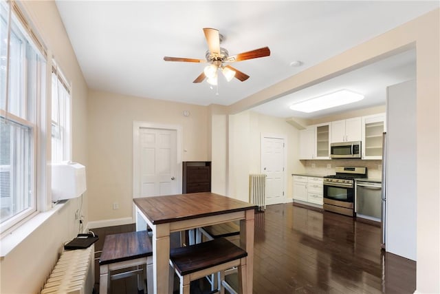
[[[70,160],[70,95],[59,70],[52,72],[52,162]]]

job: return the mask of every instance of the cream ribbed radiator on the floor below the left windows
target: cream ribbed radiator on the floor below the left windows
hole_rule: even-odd
[[[90,294],[94,287],[94,245],[64,251],[50,273],[41,294]]]

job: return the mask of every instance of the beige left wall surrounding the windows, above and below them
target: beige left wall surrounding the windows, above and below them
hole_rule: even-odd
[[[74,50],[64,29],[54,1],[25,1],[19,3],[29,14],[47,48],[52,51],[67,80],[72,83],[73,100],[73,160],[87,164],[87,85],[76,61]],[[88,170],[87,170],[88,172]],[[87,192],[83,213],[87,222]],[[74,220],[80,209],[80,198],[69,200],[48,220],[0,261],[0,293],[38,293],[52,270],[63,244],[78,233]]]

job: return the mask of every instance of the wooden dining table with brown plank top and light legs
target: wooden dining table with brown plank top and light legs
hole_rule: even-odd
[[[135,198],[133,202],[136,223],[140,216],[153,229],[154,293],[170,293],[170,233],[233,220],[240,220],[240,246],[248,252],[248,293],[252,293],[256,205],[210,192]]]

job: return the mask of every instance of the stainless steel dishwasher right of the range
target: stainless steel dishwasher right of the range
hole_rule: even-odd
[[[382,182],[356,180],[356,216],[380,222],[382,210]]]

